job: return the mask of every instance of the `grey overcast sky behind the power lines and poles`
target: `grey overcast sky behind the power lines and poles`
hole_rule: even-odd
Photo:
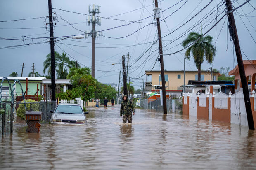
[[[164,54],[170,54],[183,49],[180,43],[187,37],[188,33],[191,31],[205,33],[216,22],[216,15],[218,15],[218,21],[225,14],[225,5],[223,5],[222,0],[213,0],[209,6],[191,19],[201,9],[203,9],[210,2],[210,0],[188,0],[187,2],[186,0],[180,1],[181,0],[159,0],[159,7],[162,9],[162,11],[167,9],[161,13],[160,18],[161,20],[164,19],[164,17],[167,17],[165,21],[161,21]],[[52,0],[52,7],[82,14],[89,14],[89,5],[100,5],[100,14],[98,14],[98,16],[113,17],[111,17],[112,19],[101,19],[101,25],[96,26],[95,28],[97,31],[121,26],[123,24],[130,23],[128,21],[137,21],[148,17],[147,19],[141,21],[143,23],[132,23],[128,26],[121,26],[103,31],[102,35],[106,37],[99,36],[95,40],[96,43],[99,43],[95,44],[95,78],[102,83],[118,84],[119,70],[121,70],[121,56],[123,54],[126,55],[129,52],[131,56],[131,67],[128,70],[128,75],[131,77],[130,80],[134,81],[133,85],[137,89],[142,85],[142,78],[145,81],[146,76],[143,76],[140,79],[132,78],[142,76],[145,74],[145,70],[151,70],[156,61],[157,55],[159,54],[158,42],[152,46],[152,42],[157,40],[157,27],[155,24],[149,24],[154,22],[154,16],[152,16],[154,4],[152,2],[152,0]],[[233,5],[238,7],[244,2],[245,0],[234,0]],[[175,5],[176,3],[178,4]],[[217,4],[218,13],[216,11]],[[247,58],[252,60],[256,59],[256,0],[251,0],[250,4],[247,3],[237,10],[235,14],[235,21],[240,46]],[[48,16],[47,12],[47,0],[0,1],[0,21],[27,19],[42,16],[46,17]],[[92,25],[89,26],[88,23],[86,23],[88,16],[60,11],[57,9],[55,12],[58,20],[55,21],[55,37],[78,35],[83,34],[81,31],[92,30]],[[68,25],[68,23],[63,19],[73,24],[72,26],[76,29]],[[114,19],[127,21],[119,21]],[[18,76],[21,76],[22,63],[25,64],[23,71],[24,76],[27,76],[28,73],[32,71],[32,63],[35,64],[36,72],[43,75],[43,61],[45,60],[45,56],[50,53],[50,44],[47,42],[49,39],[46,39],[49,37],[49,32],[46,30],[44,22],[44,18],[0,22],[0,37],[22,39],[21,36],[24,35],[33,38],[40,37],[40,39],[33,40],[33,43],[46,42],[45,44],[0,48],[0,76],[8,76],[12,72],[18,72]],[[216,56],[214,58],[213,68],[218,70],[221,66],[230,67],[230,70],[232,70],[237,64],[236,56],[235,58],[233,56],[233,45],[230,41],[227,22],[228,19],[224,17],[217,24],[217,27],[214,27],[207,34],[213,37],[213,44],[215,44],[216,41]],[[49,21],[46,20],[46,23],[49,23]],[[184,23],[185,25],[183,25]],[[142,28],[140,31],[134,33],[140,28]],[[134,34],[130,35],[132,33]],[[116,39],[118,37],[124,37],[127,35],[130,36]],[[45,37],[45,39],[42,37]],[[218,37],[217,40],[216,37]],[[173,42],[174,39],[177,40]],[[68,38],[56,42],[55,51],[62,53],[62,50],[64,50],[78,62],[91,67],[92,38],[89,37],[88,39],[76,40],[80,42],[73,40],[75,39]],[[32,43],[32,40],[26,40],[24,42],[20,40],[0,40],[0,47],[16,46],[24,43]],[[137,44],[137,46],[134,44]],[[164,68],[166,70],[183,70],[184,53],[185,50],[171,56],[164,56]],[[242,56],[244,60],[247,60],[243,53]],[[69,58],[72,59],[71,57]],[[112,63],[116,64],[112,65]],[[201,69],[207,70],[211,66],[212,65],[204,61]],[[160,70],[159,62],[155,64],[153,70]],[[187,61],[186,70],[197,70],[193,58],[191,58],[190,61]]]

